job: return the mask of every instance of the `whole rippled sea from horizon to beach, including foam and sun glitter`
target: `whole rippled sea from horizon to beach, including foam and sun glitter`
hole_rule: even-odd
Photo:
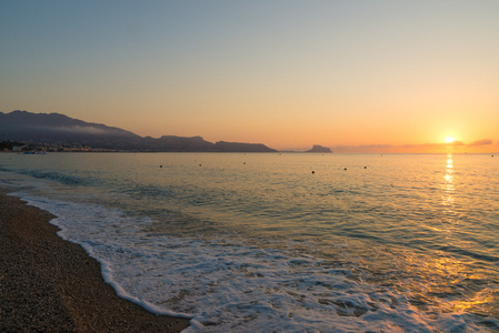
[[[0,154],[0,179],[188,331],[499,330],[499,155]]]

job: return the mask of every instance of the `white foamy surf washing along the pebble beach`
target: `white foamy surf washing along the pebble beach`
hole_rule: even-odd
[[[14,195],[56,214],[59,235],[96,258],[120,296],[154,313],[191,317],[186,332],[480,331],[467,314],[430,317],[407,295],[306,253],[223,238],[158,236],[148,218]]]

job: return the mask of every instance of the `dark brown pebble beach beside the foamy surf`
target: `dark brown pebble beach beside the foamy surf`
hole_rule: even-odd
[[[100,263],[57,235],[54,216],[0,188],[0,331],[181,332],[189,319],[157,315],[118,296]]]

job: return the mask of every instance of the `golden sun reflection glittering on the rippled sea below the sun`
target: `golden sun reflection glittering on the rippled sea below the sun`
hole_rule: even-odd
[[[398,274],[391,281],[398,290],[410,291],[409,302],[428,315],[473,313],[481,317],[498,317],[497,283],[482,270],[479,261],[460,255],[460,250],[468,245],[462,239],[466,225],[461,225],[460,202],[456,201],[459,195],[455,157],[448,154],[442,162],[435,214],[423,222],[433,239],[435,251],[426,254],[401,251],[400,261],[392,259],[392,268],[398,262]]]

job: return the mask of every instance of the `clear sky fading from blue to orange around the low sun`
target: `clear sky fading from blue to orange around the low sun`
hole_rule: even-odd
[[[0,112],[279,150],[499,152],[498,17],[497,0],[0,0]]]

